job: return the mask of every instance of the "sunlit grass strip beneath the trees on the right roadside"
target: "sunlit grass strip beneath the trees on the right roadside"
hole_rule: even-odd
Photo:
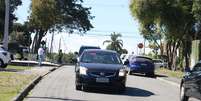
[[[182,78],[184,73],[181,71],[171,71],[165,68],[159,68],[156,70],[156,74],[159,75],[166,75],[169,77],[175,77],[175,78]]]

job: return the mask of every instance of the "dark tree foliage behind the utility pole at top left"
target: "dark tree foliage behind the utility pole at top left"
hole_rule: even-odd
[[[17,17],[14,14],[14,11],[17,9],[18,6],[22,4],[21,0],[10,0],[10,32],[12,31],[12,25]],[[0,0],[0,39],[3,38],[4,33],[4,23],[5,23],[5,0]]]

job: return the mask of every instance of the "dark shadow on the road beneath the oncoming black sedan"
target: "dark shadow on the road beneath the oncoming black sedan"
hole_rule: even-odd
[[[125,92],[119,93],[114,89],[90,89],[87,90],[89,93],[102,93],[102,94],[112,94],[112,95],[120,95],[120,96],[137,96],[137,97],[149,97],[155,95],[151,91],[147,91],[140,88],[126,87]]]

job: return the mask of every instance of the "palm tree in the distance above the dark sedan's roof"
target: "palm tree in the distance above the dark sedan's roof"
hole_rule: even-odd
[[[107,46],[108,50],[114,50],[121,54],[123,41],[121,39],[118,39],[119,37],[121,37],[121,34],[113,32],[110,36],[111,36],[111,39],[105,40],[103,42],[103,45],[105,43],[109,43],[109,45]]]

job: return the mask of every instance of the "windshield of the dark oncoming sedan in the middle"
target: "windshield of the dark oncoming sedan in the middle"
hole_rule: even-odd
[[[121,64],[117,54],[111,52],[85,52],[81,57],[84,63]]]

